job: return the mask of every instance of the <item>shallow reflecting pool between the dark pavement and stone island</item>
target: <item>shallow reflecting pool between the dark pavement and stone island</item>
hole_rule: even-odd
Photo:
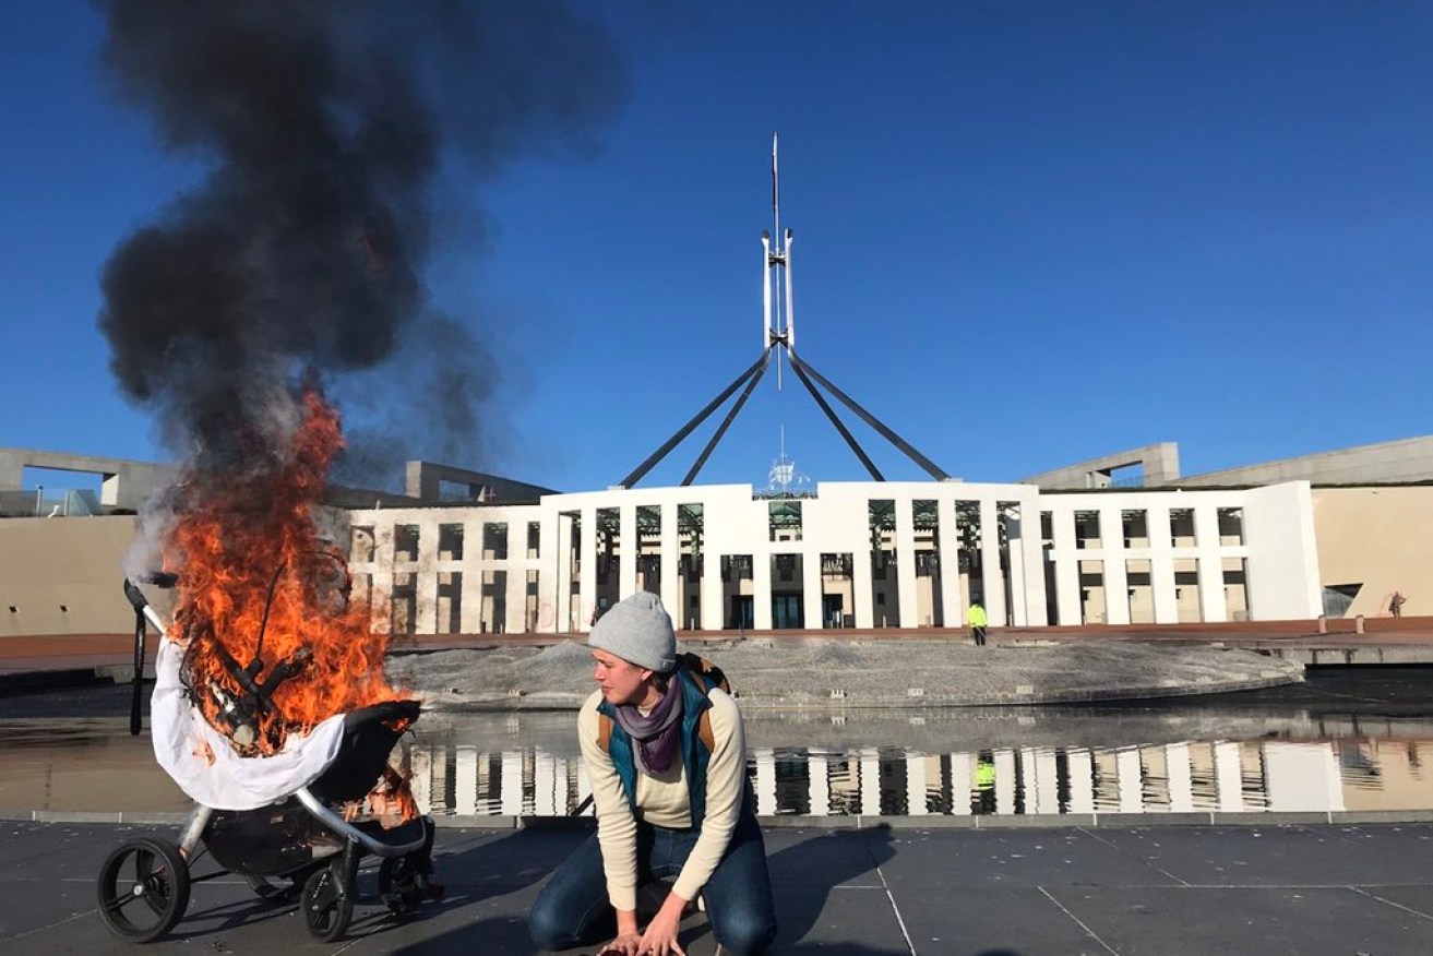
[[[0,699],[0,811],[182,811],[128,688]],[[747,714],[757,811],[800,816],[1433,811],[1433,668],[1106,708]],[[396,757],[433,816],[562,816],[570,711],[430,712]]]

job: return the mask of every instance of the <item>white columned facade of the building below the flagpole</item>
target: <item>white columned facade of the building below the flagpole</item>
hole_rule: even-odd
[[[1310,619],[1305,482],[1042,493],[1032,484],[747,484],[351,512],[350,570],[380,626],[579,632],[638,588],[688,631]]]

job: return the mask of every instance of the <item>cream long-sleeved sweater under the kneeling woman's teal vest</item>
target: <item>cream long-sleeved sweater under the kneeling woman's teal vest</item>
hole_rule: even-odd
[[[684,900],[694,899],[706,884],[731,843],[731,833],[741,814],[747,778],[747,740],[737,702],[719,689],[711,691],[711,725],[716,750],[706,765],[706,816],[696,846],[686,857],[672,892]],[[598,808],[598,843],[608,877],[608,899],[619,910],[636,909],[636,818],[618,778],[612,757],[598,744],[598,704],[595,691],[577,712],[577,740],[588,767],[588,781]],[[638,818],[658,827],[692,826],[691,800],[686,794],[686,770],[681,755],[661,777],[636,773]]]

